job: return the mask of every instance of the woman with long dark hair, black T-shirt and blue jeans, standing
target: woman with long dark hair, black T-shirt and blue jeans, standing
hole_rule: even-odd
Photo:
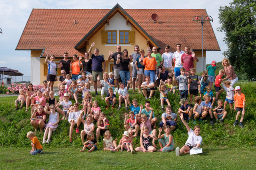
[[[119,74],[120,74],[123,84],[126,86],[127,81],[130,79],[130,75],[131,75],[131,72],[130,72],[131,60],[129,59],[127,49],[123,50],[122,57],[119,54],[117,56],[118,56],[118,58],[116,60],[116,64],[121,63]]]

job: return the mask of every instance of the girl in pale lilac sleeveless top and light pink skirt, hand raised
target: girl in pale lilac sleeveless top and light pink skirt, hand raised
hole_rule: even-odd
[[[52,91],[50,91],[52,92]],[[44,108],[44,111],[49,114],[49,121],[45,126],[44,129],[44,138],[43,138],[43,144],[44,143],[50,143],[50,139],[52,136],[52,132],[55,131],[58,127],[58,123],[60,122],[60,115],[58,112],[56,112],[56,107],[52,104],[50,105],[50,111],[48,111],[49,104],[46,104],[46,107]],[[48,135],[48,139],[46,141],[46,136]]]

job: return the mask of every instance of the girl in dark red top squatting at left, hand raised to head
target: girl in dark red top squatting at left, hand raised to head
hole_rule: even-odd
[[[46,113],[44,112],[44,107],[42,105],[33,106],[34,111],[30,118],[30,124],[36,129],[40,127],[40,132],[44,129],[46,125]],[[36,111],[37,110],[37,111]]]

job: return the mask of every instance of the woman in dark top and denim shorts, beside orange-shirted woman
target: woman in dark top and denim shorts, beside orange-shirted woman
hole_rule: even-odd
[[[137,57],[136,62],[135,62],[137,75],[138,75],[138,90],[139,90],[139,93],[141,93],[140,86],[142,84],[142,81],[143,82],[145,81],[144,66],[142,66],[140,64],[140,62],[143,63],[143,60],[145,58],[144,55],[145,55],[145,51],[144,51],[144,49],[141,49],[140,50],[140,56]]]

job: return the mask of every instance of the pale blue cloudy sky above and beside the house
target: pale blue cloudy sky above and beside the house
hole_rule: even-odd
[[[107,2],[107,3],[106,3]],[[33,8],[100,8],[110,9],[117,3],[124,9],[206,9],[212,16],[211,22],[214,33],[220,45],[221,51],[207,51],[206,63],[213,60],[222,61],[222,53],[227,50],[223,42],[224,33],[217,31],[220,26],[218,9],[227,6],[231,0],[179,0],[179,1],[155,1],[155,0],[11,0],[2,1],[0,5],[0,67],[6,66],[30,76],[30,51],[15,51],[22,31]],[[190,19],[188,20],[190,21]],[[192,19],[191,19],[192,21]],[[200,30],[198,30],[200,31]],[[172,51],[174,52],[174,51]],[[21,77],[17,77],[17,81]]]

